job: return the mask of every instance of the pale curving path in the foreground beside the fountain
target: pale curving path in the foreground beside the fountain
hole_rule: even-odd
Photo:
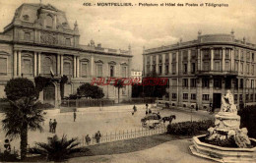
[[[178,139],[164,142],[158,146],[123,154],[75,157],[68,162],[87,163],[214,163],[212,160],[191,154],[188,146],[190,139]]]

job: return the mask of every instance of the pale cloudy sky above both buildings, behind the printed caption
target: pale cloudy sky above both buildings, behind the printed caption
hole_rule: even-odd
[[[15,10],[23,3],[39,3],[40,0],[0,0],[0,31],[12,21]],[[228,7],[97,7],[84,6],[85,2],[123,3],[216,3]],[[102,47],[132,48],[134,69],[143,68],[143,46],[189,41],[202,34],[230,33],[235,38],[256,43],[255,0],[41,0],[66,12],[70,27],[78,22],[80,43],[94,39]]]

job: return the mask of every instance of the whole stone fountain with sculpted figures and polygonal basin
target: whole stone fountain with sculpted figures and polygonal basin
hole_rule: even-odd
[[[218,162],[256,161],[256,139],[247,136],[247,129],[240,129],[240,116],[230,90],[222,96],[221,111],[215,116],[215,127],[208,135],[194,136],[189,146],[194,155]]]

